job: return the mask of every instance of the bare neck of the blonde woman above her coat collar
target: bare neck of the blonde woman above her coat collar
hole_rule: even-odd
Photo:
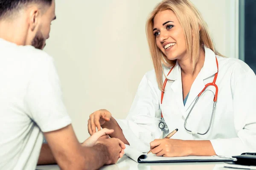
[[[204,66],[205,53],[204,49],[200,48],[199,58],[197,63],[195,64],[195,69],[193,70],[193,63],[190,59],[190,56],[186,55],[182,59],[178,59],[178,63],[181,68],[181,73],[186,76],[196,77],[198,73],[201,71],[201,68]]]

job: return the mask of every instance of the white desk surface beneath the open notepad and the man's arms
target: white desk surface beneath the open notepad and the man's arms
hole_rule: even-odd
[[[60,170],[58,165],[41,165],[36,170]],[[100,170],[229,170],[223,162],[188,162],[188,163],[151,163],[139,164],[124,155],[117,164],[108,165]]]

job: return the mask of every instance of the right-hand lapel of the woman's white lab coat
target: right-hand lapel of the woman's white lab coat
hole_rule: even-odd
[[[196,77],[195,81],[193,82],[189,96],[185,105],[185,110],[188,111],[190,106],[194,104],[194,101],[198,94],[204,89],[205,85],[209,82],[204,82],[205,79],[209,77],[214,77],[215,73],[217,73],[217,65],[216,65],[216,58],[214,52],[204,47],[205,49],[205,59],[204,59],[204,66],[199,72],[198,76]],[[210,80],[212,82],[212,79]]]

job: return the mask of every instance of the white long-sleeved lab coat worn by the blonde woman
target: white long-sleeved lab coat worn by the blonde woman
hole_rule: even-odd
[[[217,72],[215,54],[205,48],[204,66],[192,84],[185,106],[181,68],[178,63],[167,76],[170,80],[166,84],[162,105],[161,91],[157,86],[154,70],[145,74],[127,118],[117,119],[131,147],[147,152],[149,143],[160,138],[162,131],[158,124],[162,111],[169,131],[178,128],[172,139],[210,140],[219,156],[256,152],[256,76],[250,67],[239,59],[216,57],[219,65],[216,80],[218,98],[209,132],[206,135],[193,135],[183,126],[197,95],[207,83],[213,81]],[[165,75],[169,70],[170,68],[164,68]],[[207,89],[215,92],[212,86]],[[207,91],[193,108],[186,127],[204,133],[209,126],[212,105],[213,94]]]

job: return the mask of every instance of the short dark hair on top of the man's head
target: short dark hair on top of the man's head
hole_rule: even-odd
[[[52,0],[0,0],[0,19],[10,17],[30,3],[51,6]]]

